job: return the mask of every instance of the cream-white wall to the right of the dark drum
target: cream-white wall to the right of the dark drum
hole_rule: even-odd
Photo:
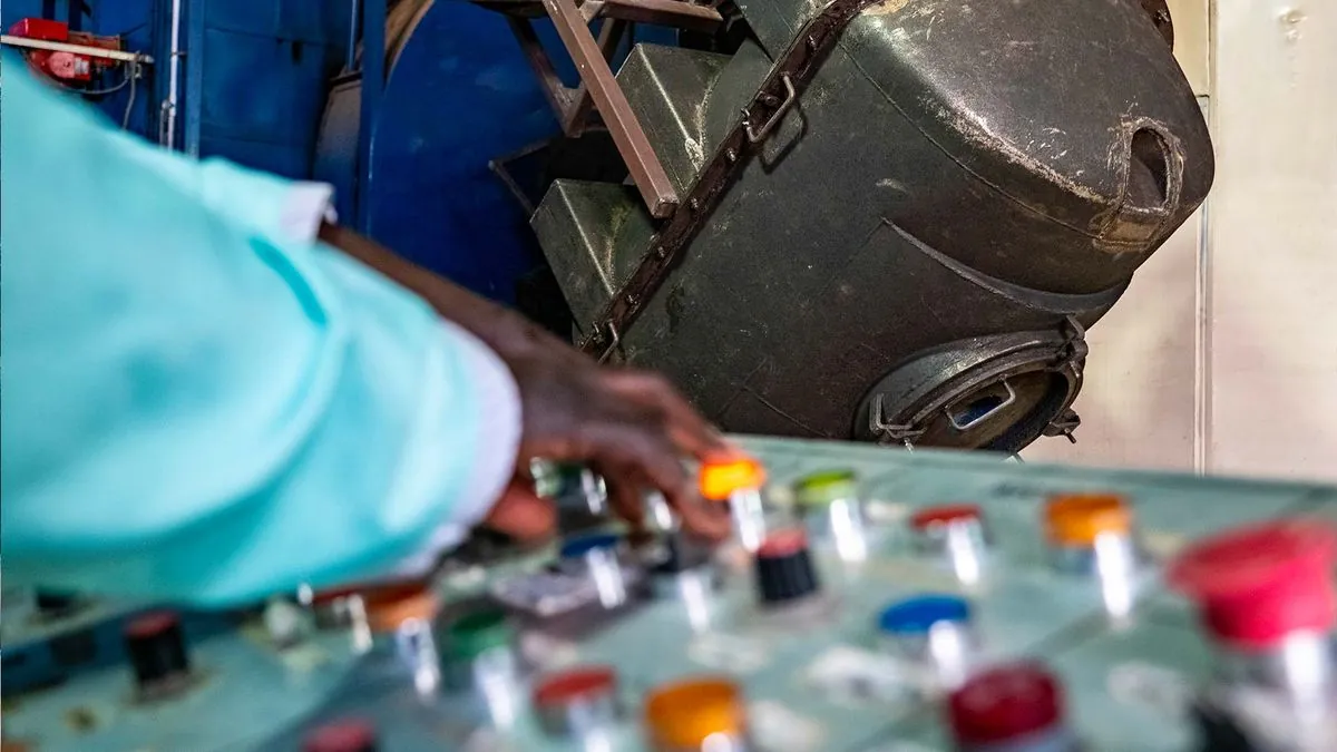
[[[1090,333],[1080,442],[1025,458],[1337,480],[1337,3],[1171,11],[1217,149],[1205,219]]]

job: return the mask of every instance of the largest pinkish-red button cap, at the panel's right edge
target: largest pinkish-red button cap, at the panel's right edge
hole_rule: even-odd
[[[1198,602],[1203,625],[1219,640],[1269,648],[1337,622],[1334,558],[1332,527],[1284,521],[1201,541],[1170,565],[1167,578]]]

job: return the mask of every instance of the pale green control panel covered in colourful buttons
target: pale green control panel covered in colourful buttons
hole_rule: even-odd
[[[541,468],[559,541],[422,582],[7,593],[5,749],[1337,749],[1337,488],[742,443],[721,545]]]

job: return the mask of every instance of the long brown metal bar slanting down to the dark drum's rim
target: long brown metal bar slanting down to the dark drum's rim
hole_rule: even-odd
[[[580,16],[580,9],[574,0],[543,0],[543,5],[548,9],[548,16],[552,17],[552,24],[558,28],[567,51],[571,52],[576,70],[580,71],[580,80],[594,98],[595,107],[599,108],[604,126],[608,127],[618,153],[627,163],[631,179],[640,190],[650,214],[660,219],[671,215],[678,207],[678,191],[674,190],[668,173],[650,146],[650,139],[631,110],[627,95],[618,86],[612,68],[603,59],[603,52],[590,33],[584,17]]]

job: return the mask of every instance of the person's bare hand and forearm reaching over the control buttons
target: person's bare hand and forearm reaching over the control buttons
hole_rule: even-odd
[[[539,499],[533,459],[574,462],[603,475],[614,508],[635,529],[640,494],[663,492],[683,526],[706,538],[729,530],[727,518],[701,504],[683,458],[735,454],[663,377],[598,365],[525,317],[409,264],[376,242],[336,225],[321,240],[428,301],[492,348],[520,392],[521,439],[516,474],[484,525],[515,538],[552,531],[556,510]]]

